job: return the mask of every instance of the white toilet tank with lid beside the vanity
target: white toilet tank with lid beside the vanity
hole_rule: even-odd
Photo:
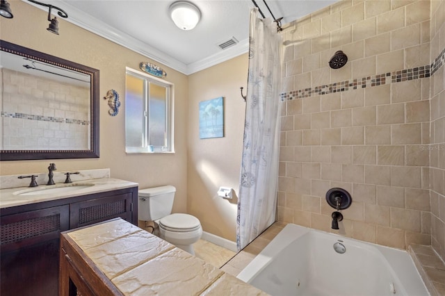
[[[161,186],[139,190],[138,219],[154,221],[172,213],[176,188]]]

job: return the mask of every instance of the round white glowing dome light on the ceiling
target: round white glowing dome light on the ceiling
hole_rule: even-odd
[[[177,1],[168,8],[170,17],[175,25],[182,30],[195,28],[201,19],[201,12],[193,3],[187,1]]]

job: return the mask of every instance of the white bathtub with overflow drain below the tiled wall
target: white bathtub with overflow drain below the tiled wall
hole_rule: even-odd
[[[296,224],[287,224],[238,279],[270,295],[430,295],[407,252]]]

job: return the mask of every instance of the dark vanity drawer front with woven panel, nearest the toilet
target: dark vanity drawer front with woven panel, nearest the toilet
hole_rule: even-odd
[[[115,217],[131,222],[132,196],[125,193],[70,204],[70,229]]]

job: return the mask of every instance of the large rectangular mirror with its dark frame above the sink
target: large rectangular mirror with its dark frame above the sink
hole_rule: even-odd
[[[0,40],[0,160],[99,157],[99,70]]]

